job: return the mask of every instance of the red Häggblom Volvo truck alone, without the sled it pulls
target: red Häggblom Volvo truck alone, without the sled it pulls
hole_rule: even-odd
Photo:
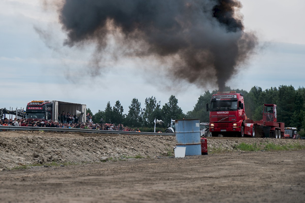
[[[243,137],[246,134],[254,137],[254,124],[245,124],[244,107],[242,93],[231,91],[213,94],[210,105],[209,103],[206,104],[206,111],[210,110],[210,132],[212,136],[220,134]]]

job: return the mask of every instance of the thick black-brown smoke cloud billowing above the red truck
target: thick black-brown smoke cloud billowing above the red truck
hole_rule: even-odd
[[[170,61],[173,80],[223,89],[258,44],[244,30],[241,7],[235,0],[65,0],[59,21],[66,45],[97,44],[95,68],[108,35],[120,33],[117,43],[128,47],[123,55]]]

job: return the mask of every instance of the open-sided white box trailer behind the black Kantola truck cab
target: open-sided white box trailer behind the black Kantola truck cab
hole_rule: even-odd
[[[53,109],[52,109],[52,119],[55,122],[58,122],[58,115],[61,116],[63,112],[76,114],[76,111],[80,111],[82,114],[79,115],[79,122],[86,122],[86,104],[79,103],[70,103],[70,102],[62,102],[62,101],[52,101]],[[59,113],[59,114],[58,114]]]

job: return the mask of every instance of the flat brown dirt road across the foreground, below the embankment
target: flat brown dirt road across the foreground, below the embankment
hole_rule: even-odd
[[[305,151],[127,159],[0,173],[0,202],[304,202]]]

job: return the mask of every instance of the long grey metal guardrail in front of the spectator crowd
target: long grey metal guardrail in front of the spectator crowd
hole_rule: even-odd
[[[22,127],[22,126],[3,126],[1,130],[20,130],[20,131],[60,131],[60,132],[85,132],[101,134],[130,134],[130,135],[176,135],[175,133],[157,133],[157,132],[135,132],[135,131],[115,131],[115,130],[90,130],[79,128],[45,128],[45,127]]]

